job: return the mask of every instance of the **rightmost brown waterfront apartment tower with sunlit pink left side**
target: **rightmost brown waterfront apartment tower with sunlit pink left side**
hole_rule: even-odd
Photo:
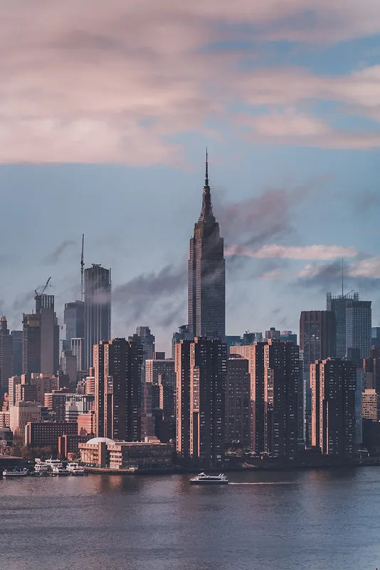
[[[357,367],[341,358],[327,358],[311,368],[313,443],[324,455],[348,459],[355,447]]]

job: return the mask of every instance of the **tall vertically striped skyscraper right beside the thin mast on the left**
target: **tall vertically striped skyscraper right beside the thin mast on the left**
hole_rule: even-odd
[[[111,336],[111,270],[85,269],[85,368],[93,366],[93,346]]]

